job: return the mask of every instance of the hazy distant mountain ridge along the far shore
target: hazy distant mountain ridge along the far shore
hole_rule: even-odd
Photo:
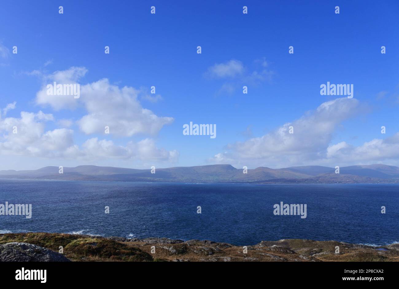
[[[160,181],[185,183],[399,183],[399,167],[391,165],[352,165],[340,167],[335,173],[332,167],[308,165],[271,169],[257,167],[236,169],[232,165],[200,165],[194,167],[169,167],[156,169],[128,169],[79,165],[63,167],[63,173],[55,166],[36,170],[2,170],[0,178],[59,179],[76,181]]]

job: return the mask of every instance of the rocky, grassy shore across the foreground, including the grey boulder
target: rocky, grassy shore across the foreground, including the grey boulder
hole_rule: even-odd
[[[335,253],[336,246],[339,253]],[[285,239],[262,241],[244,250],[243,246],[207,240],[105,238],[61,233],[0,234],[0,261],[399,261],[399,244],[372,247],[337,241]]]

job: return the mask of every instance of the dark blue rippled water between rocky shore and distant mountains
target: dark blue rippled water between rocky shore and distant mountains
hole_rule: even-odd
[[[248,185],[0,180],[0,203],[31,203],[32,218],[0,215],[0,233],[46,231],[209,239],[237,245],[289,238],[386,245],[399,241],[399,185]],[[273,205],[307,204],[307,217]],[[105,214],[105,206],[110,213]],[[202,213],[197,213],[201,206]],[[381,206],[386,213],[381,214]]]

